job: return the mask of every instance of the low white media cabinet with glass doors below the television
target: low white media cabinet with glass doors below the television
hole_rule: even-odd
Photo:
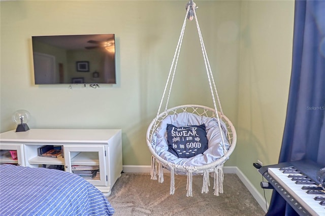
[[[61,147],[57,157],[42,157],[38,148],[53,145]],[[73,172],[76,165],[99,166],[95,177],[85,178],[105,195],[122,172],[122,141],[120,129],[30,129],[0,134],[0,163],[44,167],[62,165]],[[17,152],[14,160],[10,151]]]

